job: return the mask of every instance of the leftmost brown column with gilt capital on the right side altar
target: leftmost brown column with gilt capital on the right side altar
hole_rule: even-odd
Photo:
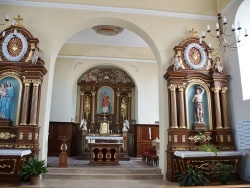
[[[170,98],[171,98],[171,127],[170,128],[178,128],[177,126],[177,107],[176,107],[176,85],[170,84],[168,89],[170,89]]]

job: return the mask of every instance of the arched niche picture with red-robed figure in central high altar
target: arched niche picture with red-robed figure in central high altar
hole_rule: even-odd
[[[103,86],[97,95],[97,114],[113,114],[114,91],[111,87]]]

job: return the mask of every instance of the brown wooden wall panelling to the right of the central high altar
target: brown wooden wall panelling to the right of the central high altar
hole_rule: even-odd
[[[135,153],[137,157],[142,157],[142,153],[147,149],[152,149],[152,140],[159,138],[159,125],[136,124],[135,130]]]

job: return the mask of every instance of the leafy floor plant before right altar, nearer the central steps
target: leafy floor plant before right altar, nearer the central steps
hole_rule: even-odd
[[[209,183],[207,179],[208,173],[200,170],[192,165],[187,166],[187,170],[177,175],[180,186],[203,186]]]

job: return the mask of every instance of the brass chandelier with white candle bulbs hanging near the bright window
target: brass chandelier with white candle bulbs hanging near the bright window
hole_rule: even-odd
[[[217,0],[217,6],[218,6],[218,12],[220,12],[218,0]],[[236,51],[236,50],[238,50],[239,47],[241,47],[246,42],[246,38],[248,36],[247,29],[245,29],[245,32],[242,35],[242,33],[241,33],[242,28],[241,28],[239,21],[237,23],[237,27],[235,26],[234,23],[232,23],[231,28],[228,29],[227,25],[228,25],[227,19],[226,19],[226,17],[222,18],[221,13],[217,14],[217,23],[215,25],[214,31],[211,30],[210,25],[207,25],[207,33],[211,37],[217,38],[219,41],[219,46],[216,48],[212,48],[211,43],[209,43],[209,48],[210,48],[213,56],[216,56],[220,52],[221,49],[223,49],[225,53],[227,50]],[[214,32],[214,33],[212,33],[212,32]],[[235,40],[233,40],[233,42],[228,42],[227,39],[229,39],[232,36],[236,37]],[[243,36],[244,36],[244,41],[242,42],[241,40],[242,40]],[[202,43],[202,40],[205,37],[206,37],[205,31],[202,31],[202,37],[200,38],[200,44]]]

